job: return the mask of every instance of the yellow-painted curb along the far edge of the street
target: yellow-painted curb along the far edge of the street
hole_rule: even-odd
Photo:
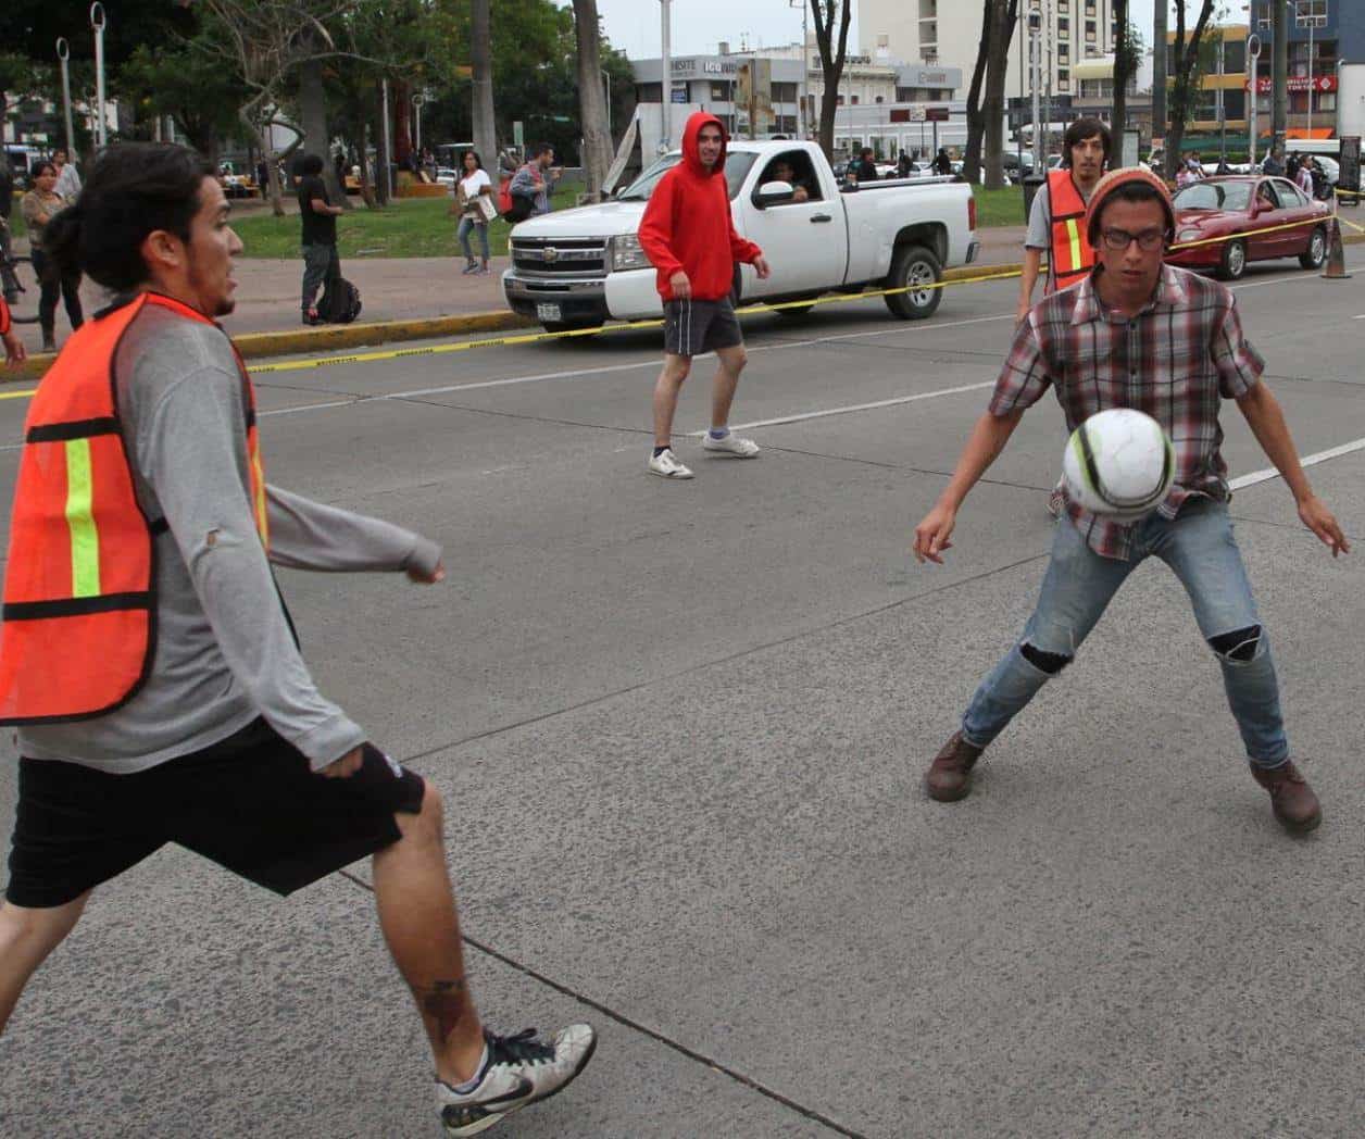
[[[1342,235],[1343,246],[1365,243],[1365,234]],[[960,269],[945,269],[945,281],[979,277],[983,273],[1021,273],[1020,264],[986,265],[976,262]],[[850,298],[852,299],[852,298]],[[307,352],[329,352],[339,348],[359,348],[385,344],[390,340],[430,340],[437,336],[463,336],[470,332],[505,332],[512,328],[532,328],[535,321],[509,311],[465,313],[457,317],[423,317],[410,321],[373,321],[370,324],[324,325],[296,328],[288,332],[244,332],[233,336],[244,359],[265,356],[293,356]],[[53,352],[35,352],[18,369],[3,369],[0,385],[37,380],[56,359]]]

